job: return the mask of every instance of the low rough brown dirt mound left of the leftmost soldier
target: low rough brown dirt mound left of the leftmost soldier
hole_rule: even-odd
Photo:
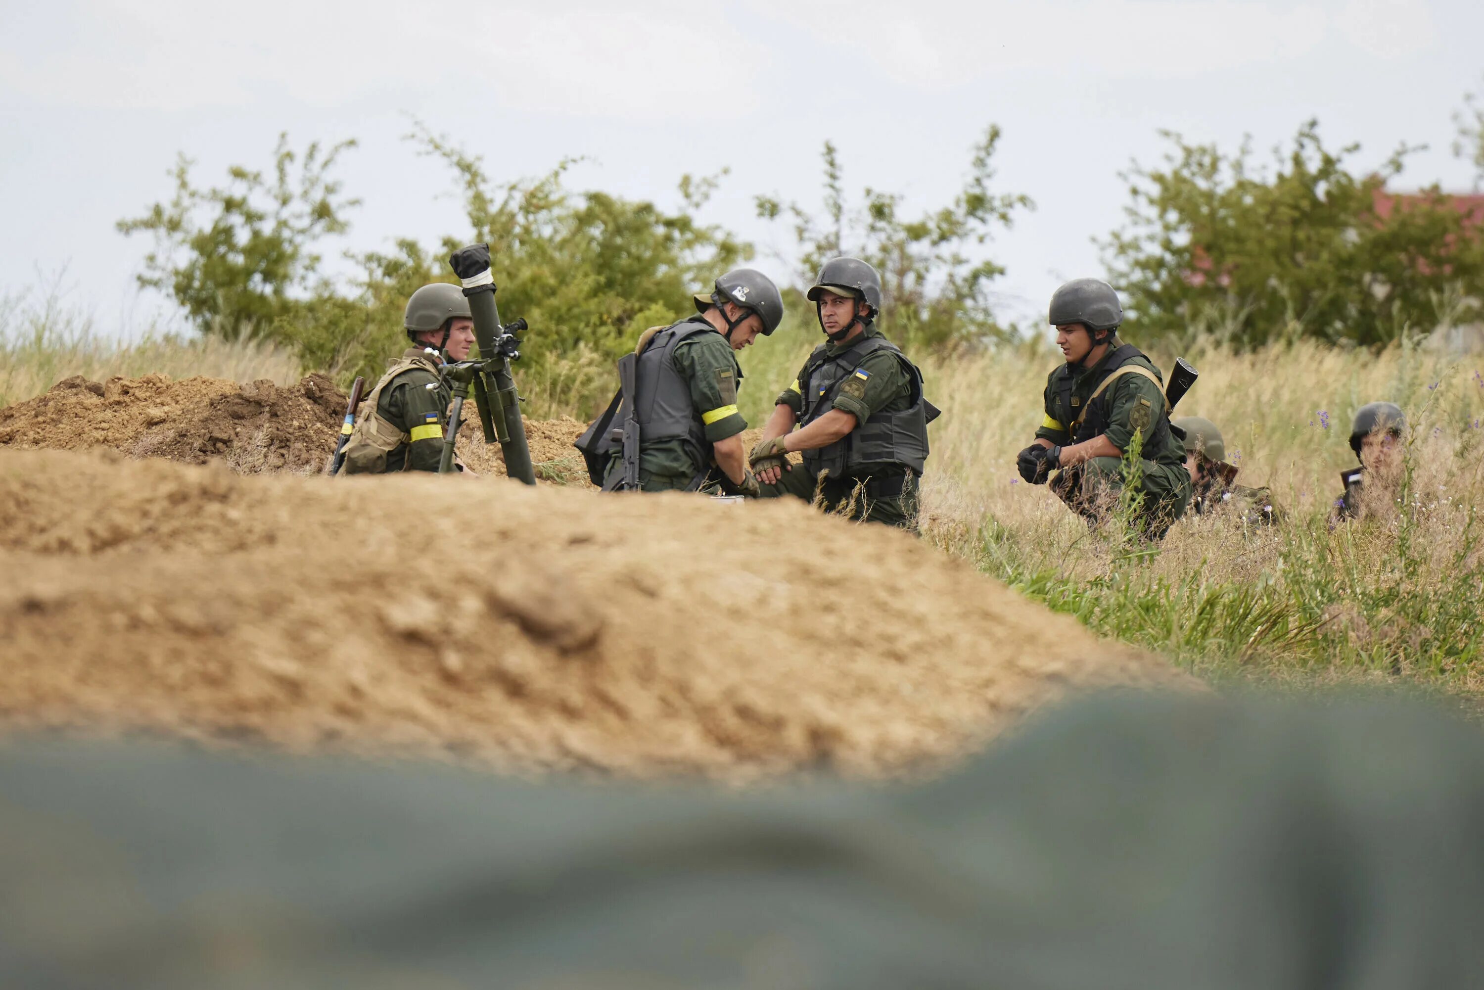
[[[294,387],[269,380],[65,378],[0,410],[0,447],[111,447],[131,457],[226,460],[240,473],[310,472],[335,448],[346,396],[312,374]]]

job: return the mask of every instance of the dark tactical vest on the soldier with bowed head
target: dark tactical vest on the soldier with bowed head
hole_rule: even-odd
[[[638,459],[643,444],[665,439],[684,441],[686,453],[696,465],[696,481],[711,469],[711,444],[700,413],[690,398],[690,381],[675,368],[675,349],[696,334],[714,334],[715,328],[690,318],[653,332],[646,332],[643,350],[619,359],[620,381],[632,380],[632,395],[620,389],[608,410],[600,416],[574,444],[588,460],[588,475],[594,484],[604,484],[607,462],[620,451]],[[625,367],[629,365],[629,367]],[[632,378],[631,378],[632,376]],[[632,411],[632,419],[631,419]],[[623,442],[623,433],[638,429],[637,442]],[[638,465],[626,465],[629,472],[614,472],[611,485],[623,487],[623,476],[637,476]]]

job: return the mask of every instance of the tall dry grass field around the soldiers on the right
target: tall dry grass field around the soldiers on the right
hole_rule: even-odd
[[[1155,355],[1168,368],[1172,355]],[[1015,473],[1057,356],[1045,346],[929,361],[925,534],[1054,609],[1205,672],[1417,677],[1484,687],[1484,356],[1407,344],[1315,344],[1184,355],[1201,371],[1180,413],[1226,435],[1239,482],[1284,519],[1187,515],[1158,548],[1117,525],[1088,531]],[[1408,414],[1405,473],[1364,521],[1333,524],[1350,419],[1389,399]]]

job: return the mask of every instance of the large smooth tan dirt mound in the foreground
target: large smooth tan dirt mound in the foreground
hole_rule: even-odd
[[[0,450],[0,724],[502,767],[890,773],[1165,683],[803,503]]]

